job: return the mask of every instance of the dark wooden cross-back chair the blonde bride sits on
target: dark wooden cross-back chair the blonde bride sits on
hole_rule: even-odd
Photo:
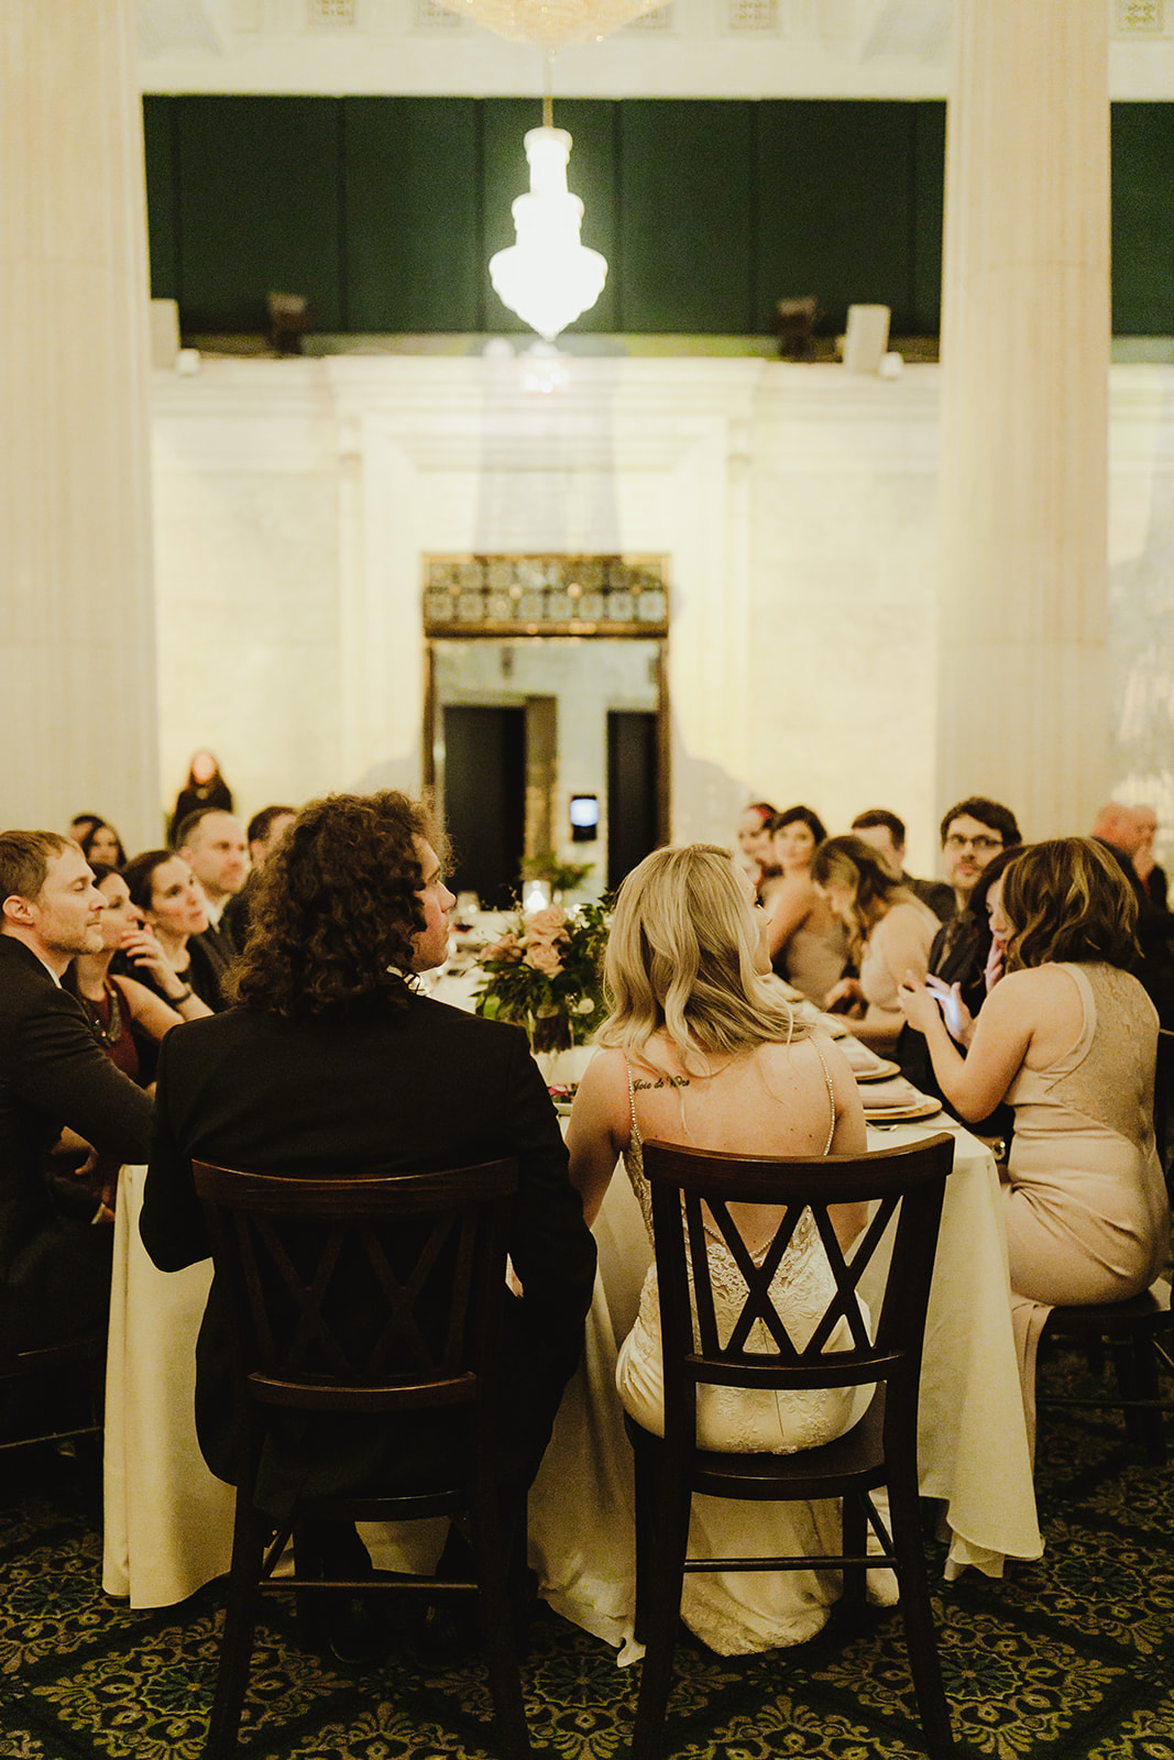
[[[843,1570],[843,1593],[862,1600],[866,1570],[898,1575],[917,1704],[929,1753],[952,1751],[952,1732],[926,1582],[917,1491],[917,1392],[929,1281],[945,1179],[954,1163],[947,1133],[864,1156],[755,1160],[665,1142],[644,1144],[651,1184],[660,1325],[664,1338],[665,1434],[627,1420],[635,1450],[637,1572],[635,1632],[648,1649],[632,1737],[634,1760],[660,1746],[672,1677],[672,1647],[685,1572]],[[871,1221],[850,1260],[836,1243],[829,1204],[866,1199]],[[766,1255],[752,1258],[729,1214],[730,1204],[787,1206]],[[769,1285],[810,1209],[834,1278],[834,1295],[806,1345],[796,1345]],[[894,1220],[896,1218],[896,1220]],[[720,1228],[746,1285],[745,1306],[722,1343],[709,1281],[706,1227]],[[857,1285],[892,1227],[892,1258],[869,1341]],[[692,1292],[690,1292],[692,1285]],[[824,1350],[840,1320],[850,1350]],[[773,1348],[746,1350],[750,1329],[767,1327]],[[797,1454],[722,1454],[697,1447],[697,1389],[817,1390],[871,1383],[864,1417],[847,1434]],[[869,1496],[889,1487],[891,1535]],[[843,1551],[818,1558],[686,1558],[693,1492],[713,1498],[794,1501],[843,1498]],[[880,1552],[866,1551],[868,1531]]]

